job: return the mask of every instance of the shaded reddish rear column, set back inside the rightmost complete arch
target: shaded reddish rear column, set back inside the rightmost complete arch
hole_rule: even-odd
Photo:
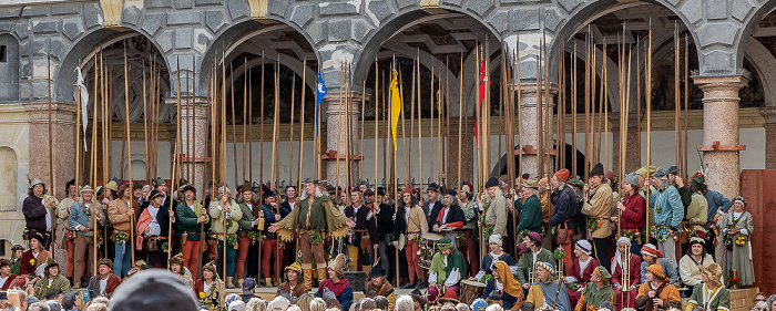
[[[612,131],[613,142],[613,144],[610,145],[610,148],[612,148],[613,164],[610,169],[614,172],[616,176],[620,176],[620,114],[610,112],[609,122],[611,123],[609,127],[610,131]],[[631,112],[627,117],[627,142],[625,142],[625,169],[623,174],[634,172],[642,166],[641,146],[639,145],[639,135],[641,135],[641,133],[639,133],[637,122],[636,113]]]

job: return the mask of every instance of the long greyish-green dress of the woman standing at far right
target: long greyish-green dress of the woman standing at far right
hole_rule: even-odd
[[[736,215],[737,212],[731,211],[726,216],[725,220],[725,229],[724,231],[727,231],[727,228],[733,226],[734,229],[742,229],[742,232],[737,235],[731,236],[731,243],[733,250],[728,250],[725,252],[725,265],[724,265],[724,271],[725,271],[725,278],[731,277],[731,271],[733,269],[738,270],[738,278],[741,278],[741,284],[748,287],[755,282],[755,271],[754,271],[754,266],[752,263],[752,232],[755,230],[755,226],[752,222],[752,214],[748,211],[744,210],[742,211],[741,215]],[[744,246],[737,246],[735,243],[736,239],[738,237],[745,237],[746,238],[746,245]]]

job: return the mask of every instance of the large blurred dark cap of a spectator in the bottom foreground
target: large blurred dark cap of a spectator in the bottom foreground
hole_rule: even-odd
[[[194,292],[181,276],[167,270],[150,269],[127,278],[111,297],[111,311],[136,310],[198,309]]]

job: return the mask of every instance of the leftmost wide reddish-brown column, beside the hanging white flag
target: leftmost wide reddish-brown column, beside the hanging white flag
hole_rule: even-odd
[[[49,103],[24,105],[30,113],[30,178],[42,180],[49,194],[64,198],[64,184],[75,178],[75,112],[72,103],[51,104],[51,133],[53,142],[53,177],[50,178],[49,157]],[[81,159],[83,160],[83,159]],[[83,176],[83,175],[82,175]]]

